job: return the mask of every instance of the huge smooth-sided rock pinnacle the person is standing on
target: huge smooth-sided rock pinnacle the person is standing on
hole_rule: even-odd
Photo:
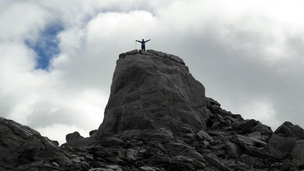
[[[94,137],[161,127],[196,133],[206,129],[209,113],[205,88],[182,59],[133,50],[117,60],[104,119]]]

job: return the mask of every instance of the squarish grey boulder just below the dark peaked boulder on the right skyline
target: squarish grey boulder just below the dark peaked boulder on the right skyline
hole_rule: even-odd
[[[292,151],[296,141],[296,138],[283,138],[282,136],[273,134],[264,149],[278,158],[285,158]]]

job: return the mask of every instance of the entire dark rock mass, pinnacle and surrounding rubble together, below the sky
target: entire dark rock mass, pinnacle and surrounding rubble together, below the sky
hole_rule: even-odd
[[[104,122],[88,138],[67,134],[60,147],[0,118],[0,170],[304,169],[301,127],[285,122],[273,132],[222,109],[184,64],[154,50],[120,54]]]

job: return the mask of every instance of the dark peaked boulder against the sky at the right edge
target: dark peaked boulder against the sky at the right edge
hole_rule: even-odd
[[[294,137],[298,140],[304,140],[304,129],[302,129],[299,125],[293,125],[291,122],[284,122],[281,126],[279,126],[275,134],[282,133],[287,137]]]

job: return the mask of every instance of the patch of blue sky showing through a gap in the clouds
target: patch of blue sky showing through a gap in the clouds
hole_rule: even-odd
[[[32,48],[38,56],[36,69],[48,70],[50,59],[52,59],[54,55],[59,54],[57,34],[61,30],[63,30],[61,24],[50,24],[40,32],[38,40],[34,43],[28,40],[25,41],[25,44]]]

